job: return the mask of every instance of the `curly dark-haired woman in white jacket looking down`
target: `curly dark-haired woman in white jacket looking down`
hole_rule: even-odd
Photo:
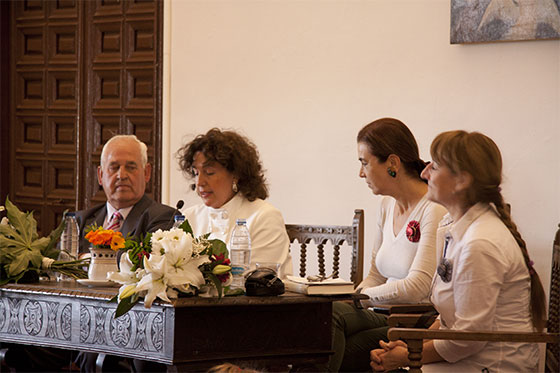
[[[264,201],[268,188],[254,144],[234,131],[213,128],[179,149],[177,158],[203,204],[185,216],[195,236],[216,231],[217,215],[227,216],[222,237],[227,243],[237,219],[246,219],[254,263],[280,264],[280,276],[292,274],[290,240],[278,209]]]

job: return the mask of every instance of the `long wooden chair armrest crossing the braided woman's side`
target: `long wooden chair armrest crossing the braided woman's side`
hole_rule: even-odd
[[[390,328],[387,336],[389,340],[398,339],[447,339],[460,341],[492,341],[492,342],[533,342],[560,343],[560,333],[533,332],[483,332],[458,330],[432,330],[412,328]]]

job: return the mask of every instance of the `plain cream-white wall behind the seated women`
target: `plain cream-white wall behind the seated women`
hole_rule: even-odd
[[[212,126],[258,146],[287,222],[349,224],[379,198],[355,137],[393,116],[421,154],[444,130],[500,146],[503,192],[548,290],[560,222],[560,41],[449,44],[448,0],[166,0],[164,202],[198,203],[173,153]],[[481,165],[484,167],[484,165]]]

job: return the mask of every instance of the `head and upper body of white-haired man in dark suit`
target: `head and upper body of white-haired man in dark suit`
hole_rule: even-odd
[[[105,228],[120,230],[123,236],[137,236],[173,225],[175,210],[145,195],[152,166],[148,163],[148,149],[134,135],[117,135],[109,139],[101,152],[97,168],[99,185],[107,202],[76,212],[80,232],[96,223]],[[80,252],[88,252],[89,243],[82,234]]]

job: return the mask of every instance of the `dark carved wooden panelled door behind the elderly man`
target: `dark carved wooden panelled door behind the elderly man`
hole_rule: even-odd
[[[160,199],[161,1],[11,3],[10,199],[50,232],[65,209],[105,201],[104,142],[133,133]]]

